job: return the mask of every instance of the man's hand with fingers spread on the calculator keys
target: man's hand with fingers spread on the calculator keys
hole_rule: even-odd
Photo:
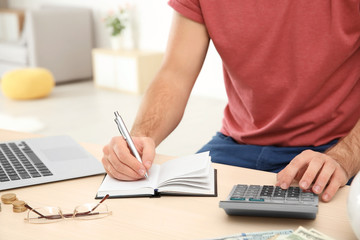
[[[287,189],[294,179],[299,181],[302,189],[311,188],[316,194],[322,193],[321,199],[328,202],[348,182],[349,177],[344,168],[329,155],[306,150],[278,173],[276,185]]]

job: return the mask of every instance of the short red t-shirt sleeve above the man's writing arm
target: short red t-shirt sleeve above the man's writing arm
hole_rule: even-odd
[[[169,6],[181,15],[198,23],[204,23],[199,0],[169,0]]]

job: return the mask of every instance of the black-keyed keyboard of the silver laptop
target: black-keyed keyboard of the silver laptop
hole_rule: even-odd
[[[53,175],[25,143],[0,144],[0,182]]]

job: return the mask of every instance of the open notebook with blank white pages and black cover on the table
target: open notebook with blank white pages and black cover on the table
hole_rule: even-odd
[[[153,164],[149,177],[138,181],[119,181],[106,175],[96,198],[158,195],[216,196],[216,170],[209,152]]]

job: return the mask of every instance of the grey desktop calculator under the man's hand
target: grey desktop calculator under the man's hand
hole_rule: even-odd
[[[300,187],[235,185],[219,206],[228,215],[315,219],[319,197]]]

